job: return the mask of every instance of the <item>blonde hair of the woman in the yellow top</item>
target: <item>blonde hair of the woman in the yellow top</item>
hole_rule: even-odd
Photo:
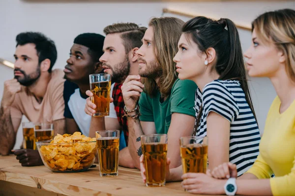
[[[295,10],[266,12],[252,22],[263,43],[273,43],[286,56],[286,71],[295,82]]]

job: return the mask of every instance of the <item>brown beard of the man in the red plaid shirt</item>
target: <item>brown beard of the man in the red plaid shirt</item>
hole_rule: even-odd
[[[124,81],[130,72],[130,62],[128,56],[126,56],[126,59],[123,62],[120,62],[113,67],[106,63],[103,63],[102,66],[106,66],[112,70],[112,81],[116,83]]]

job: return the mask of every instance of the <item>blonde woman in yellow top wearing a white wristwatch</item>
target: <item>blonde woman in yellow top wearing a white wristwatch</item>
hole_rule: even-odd
[[[266,12],[255,19],[252,45],[244,56],[249,75],[268,77],[277,93],[260,155],[237,179],[236,165],[225,163],[207,175],[182,175],[182,186],[195,194],[295,196],[295,10]]]

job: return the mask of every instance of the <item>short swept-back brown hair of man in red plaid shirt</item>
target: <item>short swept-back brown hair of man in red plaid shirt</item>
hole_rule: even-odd
[[[121,33],[121,39],[125,47],[126,53],[131,49],[140,48],[143,44],[142,39],[145,35],[147,27],[140,27],[135,23],[116,23],[108,25],[103,29],[103,32],[108,34]]]

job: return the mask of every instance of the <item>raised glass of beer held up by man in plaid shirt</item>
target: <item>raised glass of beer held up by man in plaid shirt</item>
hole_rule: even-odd
[[[111,75],[110,74],[90,74],[90,91],[92,103],[96,105],[94,117],[109,116],[110,113],[110,94],[111,94]]]

